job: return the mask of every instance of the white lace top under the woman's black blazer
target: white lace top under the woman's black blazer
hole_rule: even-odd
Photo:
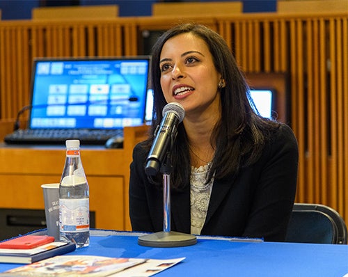
[[[209,165],[191,167],[191,234],[194,235],[200,235],[212,193],[213,178],[205,184]]]

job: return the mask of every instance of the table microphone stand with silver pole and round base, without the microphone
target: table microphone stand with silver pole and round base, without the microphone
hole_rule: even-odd
[[[163,174],[163,231],[140,236],[138,244],[150,247],[178,247],[196,244],[197,238],[195,236],[171,231],[172,166],[169,152],[166,154],[166,161],[161,165],[160,171]]]

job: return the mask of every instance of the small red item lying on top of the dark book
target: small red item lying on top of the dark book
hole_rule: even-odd
[[[16,237],[15,239],[9,239],[6,242],[0,242],[0,248],[9,249],[31,249],[44,244],[54,242],[54,237],[50,236],[35,236],[26,235],[22,237]]]

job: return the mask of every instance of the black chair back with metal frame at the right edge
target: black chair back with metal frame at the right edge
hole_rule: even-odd
[[[295,203],[285,242],[347,244],[342,216],[326,205]]]

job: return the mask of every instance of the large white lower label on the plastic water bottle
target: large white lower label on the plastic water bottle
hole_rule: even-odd
[[[61,232],[89,230],[89,199],[59,199],[59,228]]]

